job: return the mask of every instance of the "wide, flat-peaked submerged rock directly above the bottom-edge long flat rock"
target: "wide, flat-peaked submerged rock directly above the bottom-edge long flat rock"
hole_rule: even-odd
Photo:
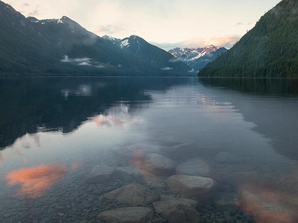
[[[144,205],[159,200],[159,197],[148,187],[139,183],[131,183],[114,191],[104,194],[100,200],[107,198],[130,205]]]

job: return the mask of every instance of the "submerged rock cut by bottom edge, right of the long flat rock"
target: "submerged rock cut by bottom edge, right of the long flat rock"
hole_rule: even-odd
[[[199,213],[189,204],[181,201],[159,201],[153,203],[155,211],[169,223],[197,223]]]

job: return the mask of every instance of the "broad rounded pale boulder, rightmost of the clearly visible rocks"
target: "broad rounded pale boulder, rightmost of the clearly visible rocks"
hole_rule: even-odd
[[[207,200],[218,189],[218,183],[211,178],[187,175],[173,175],[167,179],[167,185],[195,200]]]

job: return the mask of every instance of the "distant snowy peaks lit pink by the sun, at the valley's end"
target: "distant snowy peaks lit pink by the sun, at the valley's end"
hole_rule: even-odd
[[[227,49],[224,47],[218,48],[214,45],[209,45],[203,48],[175,48],[169,50],[168,53],[172,54],[177,58],[177,60],[181,60],[182,62],[189,65],[194,70],[198,71],[210,61],[216,59],[218,55],[226,52]]]

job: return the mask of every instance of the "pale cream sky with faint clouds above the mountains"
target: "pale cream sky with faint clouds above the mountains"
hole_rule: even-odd
[[[280,0],[7,0],[23,15],[71,18],[99,36],[138,35],[165,50],[230,48]]]

